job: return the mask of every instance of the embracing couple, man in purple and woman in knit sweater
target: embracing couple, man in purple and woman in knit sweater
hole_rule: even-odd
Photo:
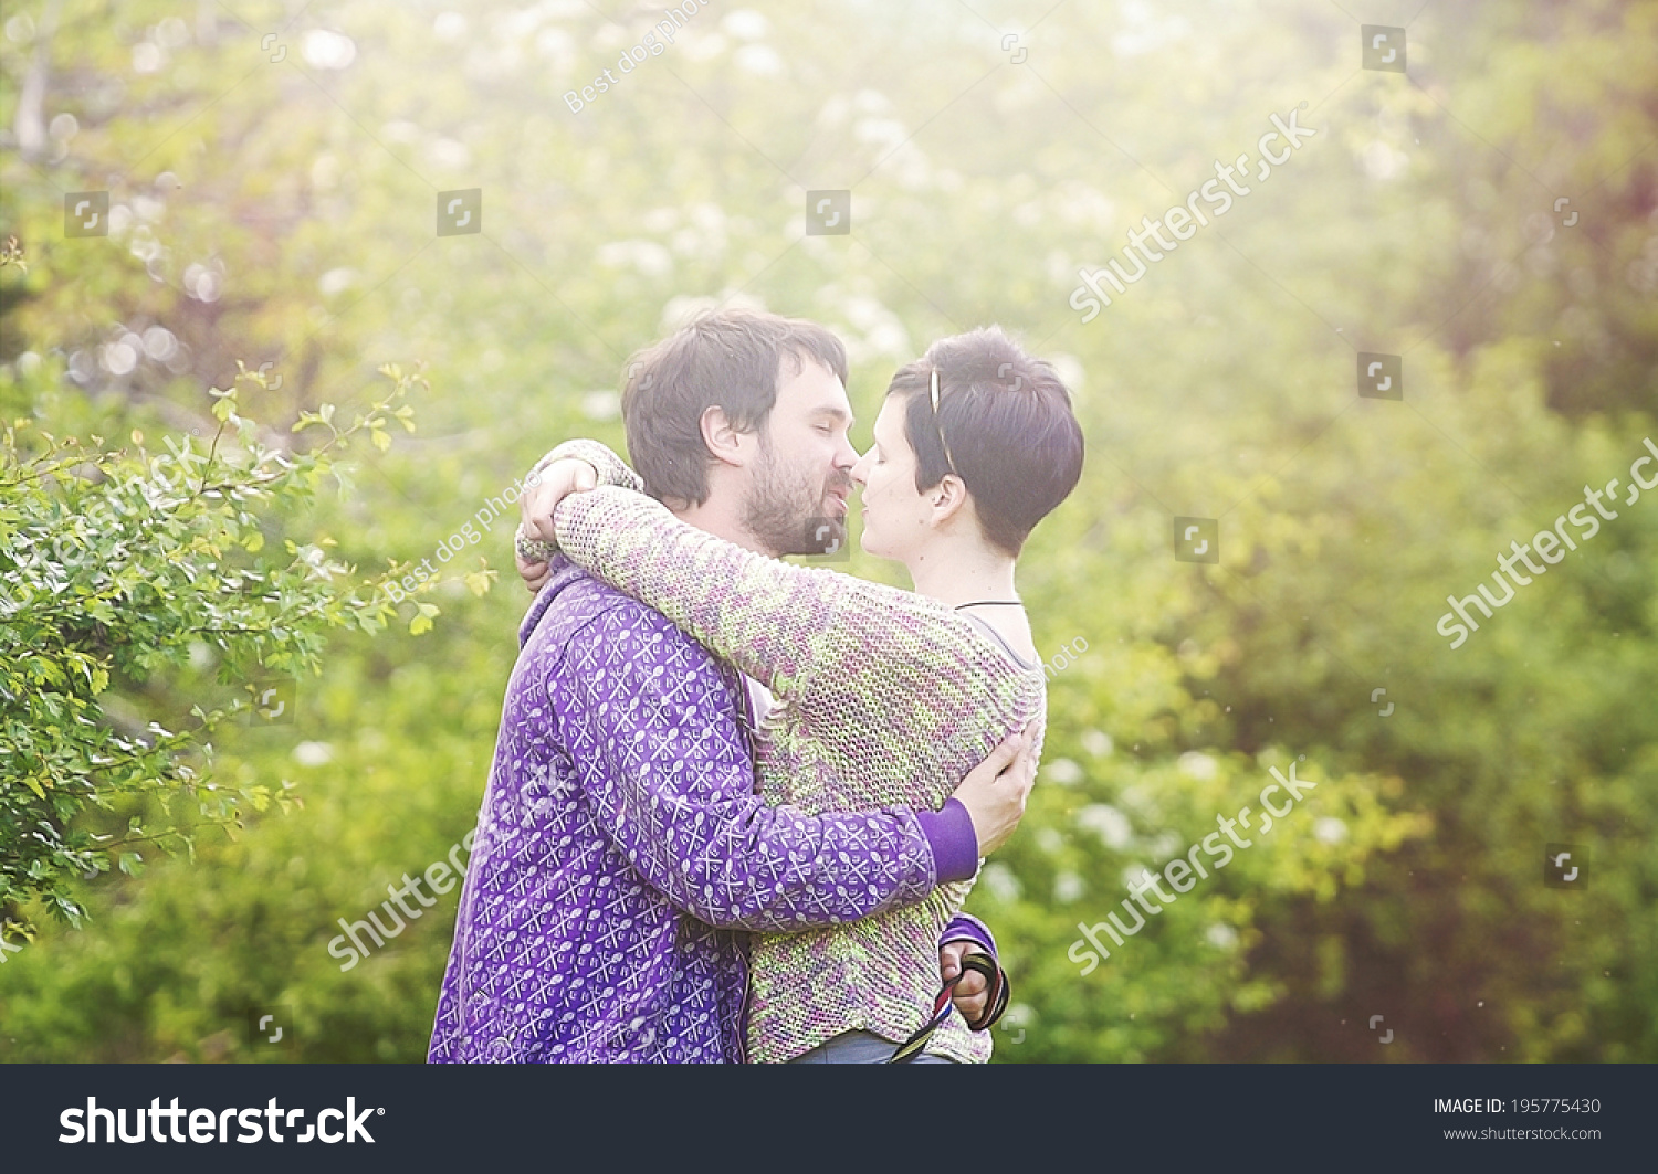
[[[628,469],[536,467],[519,628],[429,1060],[983,1063],[1008,1002],[960,912],[1025,811],[1045,677],[1015,589],[1081,475],[1054,369],[998,328],[892,376],[749,310],[628,364]],[[914,591],[781,555],[846,543]]]

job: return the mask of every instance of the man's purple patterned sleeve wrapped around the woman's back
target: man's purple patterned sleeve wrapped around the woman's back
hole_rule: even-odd
[[[857,921],[958,879],[935,859],[977,866],[977,843],[955,843],[963,825],[973,838],[972,821],[945,813],[768,806],[715,661],[642,604],[618,599],[585,624],[547,690],[592,818],[653,888],[713,926]]]

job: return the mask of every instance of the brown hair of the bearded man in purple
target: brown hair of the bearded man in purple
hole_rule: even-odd
[[[723,407],[741,432],[766,426],[784,361],[817,363],[846,383],[846,348],[812,321],[758,310],[715,310],[638,351],[622,384],[622,422],[633,469],[658,500],[708,500],[713,454],[701,419]]]

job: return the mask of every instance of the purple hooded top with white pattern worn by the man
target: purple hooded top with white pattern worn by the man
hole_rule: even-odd
[[[953,801],[768,806],[739,674],[562,558],[519,642],[433,1063],[741,1061],[741,931],[854,921],[977,864]]]

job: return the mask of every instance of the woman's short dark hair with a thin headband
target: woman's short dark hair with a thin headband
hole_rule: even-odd
[[[904,434],[915,450],[915,490],[927,492],[953,465],[985,538],[1008,555],[1020,553],[1083,475],[1083,427],[1071,392],[1051,364],[1026,354],[1000,326],[938,339],[892,376],[887,396],[909,401]]]

